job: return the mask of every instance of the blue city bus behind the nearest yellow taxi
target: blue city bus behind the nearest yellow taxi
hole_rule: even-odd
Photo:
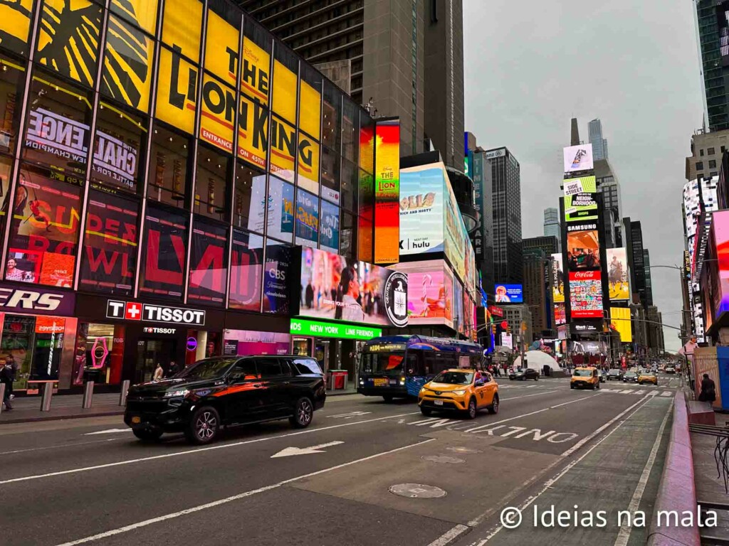
[[[428,336],[385,336],[367,341],[359,355],[357,392],[365,396],[417,397],[448,368],[480,368],[483,347],[471,341]]]

